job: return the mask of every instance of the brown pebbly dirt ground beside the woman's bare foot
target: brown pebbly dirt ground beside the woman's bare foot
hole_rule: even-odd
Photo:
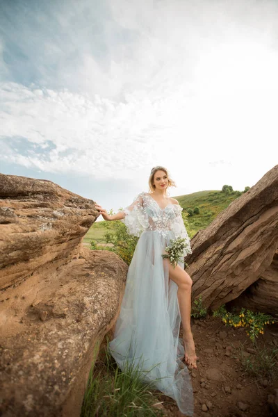
[[[274,417],[269,402],[278,380],[251,377],[244,373],[239,352],[252,357],[252,341],[242,327],[225,326],[220,318],[207,315],[193,319],[197,369],[190,371],[195,397],[194,417]],[[182,332],[182,331],[181,331]],[[243,344],[243,347],[242,345]],[[257,339],[259,347],[278,345],[278,326],[268,325]],[[241,347],[240,347],[241,346]],[[240,357],[241,358],[241,357]],[[157,391],[158,393],[158,391]],[[165,416],[181,417],[177,404],[158,394]]]

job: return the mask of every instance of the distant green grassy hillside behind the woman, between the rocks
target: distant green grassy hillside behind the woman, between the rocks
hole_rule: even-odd
[[[206,229],[221,211],[223,211],[234,199],[238,198],[240,191],[234,191],[231,194],[225,194],[218,190],[198,191],[188,195],[175,196],[181,204],[181,207],[194,209],[199,207],[199,214],[188,216],[188,224],[186,229],[190,238],[200,229]],[[83,238],[83,242],[90,243],[90,240],[94,239],[97,243],[106,243],[104,234],[106,228],[104,227],[105,221],[95,222],[88,230]]]

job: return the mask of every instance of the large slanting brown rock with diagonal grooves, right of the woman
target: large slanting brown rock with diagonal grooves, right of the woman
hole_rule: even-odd
[[[236,299],[260,277],[268,276],[278,247],[278,165],[199,231],[191,245],[193,253],[186,262],[193,299],[202,295],[204,306],[211,309]],[[261,288],[267,296],[265,309],[275,313],[277,308],[267,294],[278,293],[278,282],[271,281]]]

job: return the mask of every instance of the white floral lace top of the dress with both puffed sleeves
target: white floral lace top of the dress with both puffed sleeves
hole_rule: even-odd
[[[186,238],[184,256],[192,253],[190,238],[181,216],[182,207],[179,204],[170,203],[161,208],[151,195],[142,192],[130,206],[120,211],[125,213],[121,222],[126,225],[129,234],[139,237],[143,231],[156,231],[161,236],[166,236],[172,231],[174,238]]]

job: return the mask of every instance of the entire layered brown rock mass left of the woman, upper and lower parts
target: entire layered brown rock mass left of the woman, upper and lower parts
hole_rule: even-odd
[[[1,174],[0,213],[0,414],[77,417],[128,266],[81,245],[95,204],[50,181]]]

